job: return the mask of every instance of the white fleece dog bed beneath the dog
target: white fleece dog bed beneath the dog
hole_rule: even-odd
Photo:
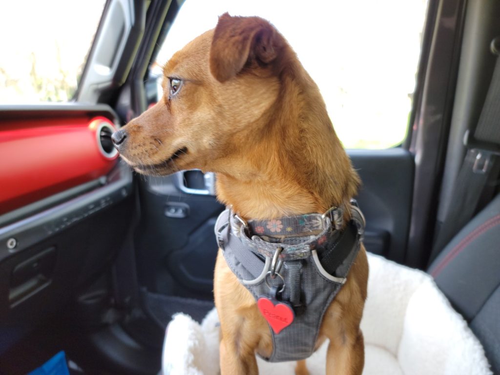
[[[368,261],[364,375],[492,373],[481,344],[429,275],[372,254]],[[215,309],[201,325],[174,315],[163,345],[164,375],[217,375],[218,326]],[[325,353],[326,343],[307,359],[311,375],[324,375]],[[295,362],[257,362],[261,375],[294,373]]]

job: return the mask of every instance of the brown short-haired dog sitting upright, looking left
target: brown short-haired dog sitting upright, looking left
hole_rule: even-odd
[[[348,206],[358,176],[338,140],[316,84],[285,39],[258,17],[219,17],[164,67],[164,95],[113,134],[140,173],[199,168],[217,173],[217,197],[245,219]],[[348,220],[348,211],[344,220]],[[360,374],[359,329],[368,265],[363,246],[327,308],[316,347],[329,339],[326,372]],[[219,250],[214,276],[223,375],[256,374],[269,356],[269,327],[254,297]],[[306,374],[297,362],[297,374]]]

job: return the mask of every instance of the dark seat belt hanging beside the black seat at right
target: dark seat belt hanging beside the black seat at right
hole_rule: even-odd
[[[491,43],[493,53],[498,55],[498,50],[493,48],[495,41],[500,42],[500,37]],[[465,132],[464,144],[467,152],[455,181],[448,212],[434,237],[429,264],[451,238],[470,221],[478,209],[483,191],[490,187],[488,181],[498,175],[500,168],[500,57],[498,56],[479,121],[473,135],[469,130]],[[488,190],[492,196],[493,189]]]

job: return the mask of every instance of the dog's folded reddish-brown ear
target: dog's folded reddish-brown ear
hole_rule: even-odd
[[[210,48],[210,71],[220,82],[235,76],[247,61],[272,62],[280,48],[280,35],[259,17],[219,16]]]

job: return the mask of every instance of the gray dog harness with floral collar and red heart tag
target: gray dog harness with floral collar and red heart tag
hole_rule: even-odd
[[[343,209],[246,222],[225,209],[215,235],[232,272],[252,293],[272,335],[272,354],[280,362],[309,357],[323,314],[345,283],[359,251],[364,217]]]

